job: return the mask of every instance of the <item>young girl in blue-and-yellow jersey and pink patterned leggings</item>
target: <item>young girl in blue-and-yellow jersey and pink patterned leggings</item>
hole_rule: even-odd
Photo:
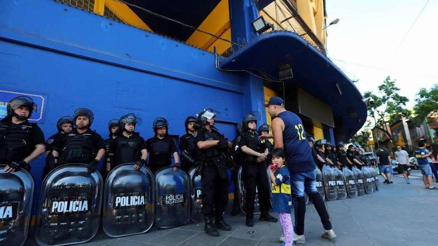
[[[284,242],[280,246],[291,246],[294,240],[294,228],[291,219],[291,180],[289,170],[285,166],[285,157],[282,149],[272,152],[272,164],[269,174],[272,181],[272,207],[279,213],[280,223],[283,227]]]

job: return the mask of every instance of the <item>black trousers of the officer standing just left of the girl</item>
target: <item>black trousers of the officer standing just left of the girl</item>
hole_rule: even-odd
[[[242,167],[242,178],[245,185],[247,216],[254,215],[254,201],[256,187],[258,189],[258,200],[260,203],[260,212],[262,215],[267,214],[270,206],[268,177],[265,163],[245,164]]]

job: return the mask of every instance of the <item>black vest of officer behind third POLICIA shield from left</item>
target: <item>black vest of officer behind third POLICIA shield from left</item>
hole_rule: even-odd
[[[140,152],[138,149],[139,138],[132,136],[130,138],[117,137],[114,139],[117,143],[114,165],[124,163],[134,163],[140,160]]]

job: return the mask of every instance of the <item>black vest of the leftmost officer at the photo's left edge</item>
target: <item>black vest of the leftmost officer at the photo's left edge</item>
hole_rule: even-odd
[[[34,150],[30,144],[31,131],[36,123],[0,123],[0,163],[18,162]]]

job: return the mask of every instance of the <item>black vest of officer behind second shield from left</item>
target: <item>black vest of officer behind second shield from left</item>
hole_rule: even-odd
[[[91,133],[69,133],[59,156],[59,164],[88,164],[93,161],[95,151]]]

